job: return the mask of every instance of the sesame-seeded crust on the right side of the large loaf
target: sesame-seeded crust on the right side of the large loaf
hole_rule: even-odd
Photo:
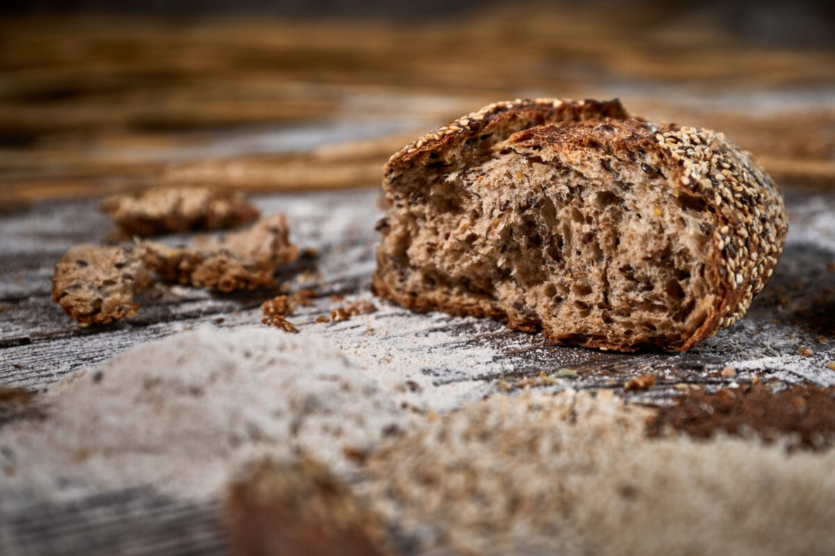
[[[529,128],[508,143],[569,151],[605,145],[623,158],[636,159],[655,154],[671,194],[701,198],[715,214],[711,259],[720,280],[715,286],[721,289],[721,302],[690,338],[676,346],[678,350],[692,348],[742,318],[777,266],[787,233],[780,190],[751,153],[722,133],[636,118],[604,118]],[[647,173],[655,172],[645,163],[640,165]]]

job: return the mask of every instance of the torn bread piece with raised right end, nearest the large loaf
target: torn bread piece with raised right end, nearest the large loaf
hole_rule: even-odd
[[[148,267],[164,280],[231,292],[271,285],[276,266],[298,258],[288,233],[286,216],[274,214],[225,238],[198,238],[192,247],[142,241],[139,248]]]

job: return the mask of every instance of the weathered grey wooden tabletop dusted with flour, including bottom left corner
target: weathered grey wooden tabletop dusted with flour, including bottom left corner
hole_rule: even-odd
[[[273,195],[255,203],[265,214],[287,213],[291,238],[301,249],[318,251],[318,257],[303,258],[280,274],[291,288],[313,288],[320,295],[289,317],[301,336],[331,339],[377,378],[411,379],[429,408],[444,411],[501,393],[540,372],[558,377],[545,390],[608,388],[661,403],[680,393],[682,383],[718,385],[748,380],[752,373],[764,373],[764,380],[835,383],[835,371],[826,367],[835,360],[835,196],[784,193],[790,219],[785,253],[746,318],[687,353],[637,354],[555,347],[541,334],[512,332],[501,323],[409,313],[372,298],[368,279],[377,243],[377,190]],[[205,325],[261,326],[261,302],[277,288],[218,295],[160,287],[139,298],[139,318],[78,328],[50,300],[49,277],[67,248],[99,242],[109,231],[107,218],[94,206],[94,200],[34,203],[0,218],[0,385],[44,391],[68,373],[137,343]],[[345,299],[333,301],[331,294]],[[313,323],[360,298],[372,300],[379,310],[341,323]],[[802,355],[800,348],[812,354]],[[728,365],[736,368],[735,378],[719,375]],[[647,374],[656,375],[659,385],[624,390],[630,378]],[[40,418],[3,411],[0,427]],[[61,503],[33,496],[23,507],[3,510],[0,524],[0,546],[31,553],[66,552],[67,547],[85,553],[225,550],[214,506],[185,503],[153,488],[82,488]],[[142,542],[143,535],[152,542]]]

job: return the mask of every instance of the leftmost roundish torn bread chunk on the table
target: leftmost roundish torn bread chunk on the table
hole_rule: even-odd
[[[81,326],[135,317],[134,293],[147,288],[148,269],[137,249],[78,245],[55,265],[53,301]]]

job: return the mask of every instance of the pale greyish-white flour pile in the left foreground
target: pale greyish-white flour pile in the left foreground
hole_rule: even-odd
[[[210,498],[240,463],[300,451],[352,473],[382,438],[423,421],[405,385],[383,386],[324,339],[263,327],[135,346],[43,403],[42,422],[0,429],[0,468],[10,486],[47,494],[93,481]]]

